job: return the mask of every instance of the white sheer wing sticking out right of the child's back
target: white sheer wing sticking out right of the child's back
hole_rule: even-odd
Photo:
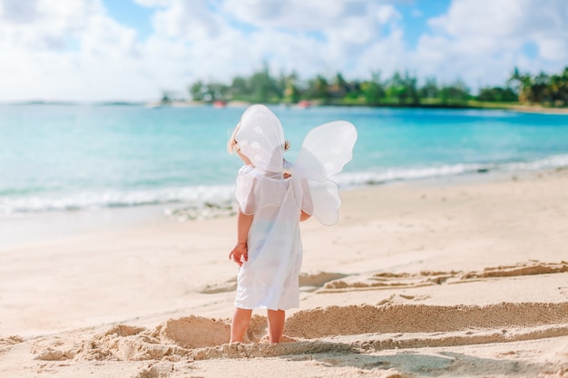
[[[312,216],[324,225],[338,221],[341,199],[338,184],[330,178],[353,157],[357,130],[348,121],[333,121],[308,132],[294,170],[308,181]]]

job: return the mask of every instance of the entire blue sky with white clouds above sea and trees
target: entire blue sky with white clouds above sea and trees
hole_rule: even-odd
[[[187,97],[273,73],[503,85],[568,65],[565,0],[0,0],[0,102]]]

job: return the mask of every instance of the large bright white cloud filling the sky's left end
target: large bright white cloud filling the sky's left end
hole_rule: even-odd
[[[157,95],[142,75],[136,32],[106,15],[99,0],[16,3],[0,2],[0,101]]]

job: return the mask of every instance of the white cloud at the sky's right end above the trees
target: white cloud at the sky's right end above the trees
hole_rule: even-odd
[[[424,76],[470,87],[503,85],[515,66],[532,73],[559,71],[568,51],[568,2],[454,0],[446,15],[429,20],[411,63]],[[527,43],[538,56],[526,56]]]

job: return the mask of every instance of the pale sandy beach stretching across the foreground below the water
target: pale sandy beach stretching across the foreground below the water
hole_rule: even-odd
[[[235,218],[0,249],[0,377],[568,377],[568,170],[341,193],[287,343],[227,344]]]

